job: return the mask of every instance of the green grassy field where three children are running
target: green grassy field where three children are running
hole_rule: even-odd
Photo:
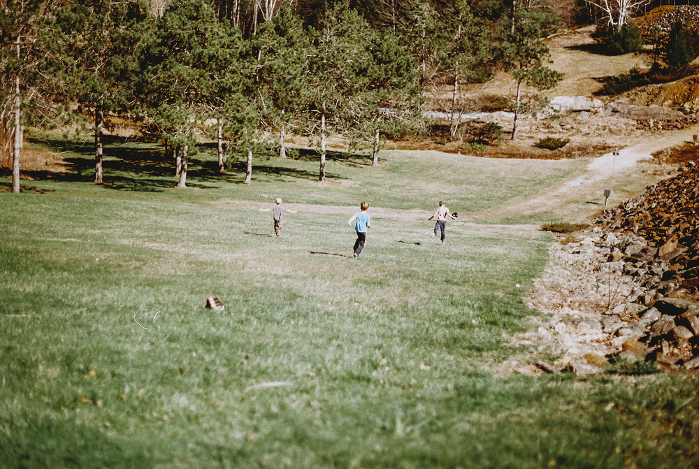
[[[89,148],[63,151],[70,173],[0,194],[0,467],[699,461],[696,375],[493,373],[523,352],[508,334],[533,314],[522,298],[548,233],[452,222],[440,245],[430,222],[388,215],[347,255],[363,199],[445,198],[468,217],[579,162],[394,152],[377,169],[338,155],[319,184],[302,155],[260,161],[242,185],[203,154],[178,190],[150,145],[111,148],[105,187],[87,183]],[[280,238],[269,213],[218,203],[275,196],[308,204]],[[226,310],[203,308],[210,295]]]

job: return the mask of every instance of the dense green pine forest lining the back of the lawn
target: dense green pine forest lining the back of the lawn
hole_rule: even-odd
[[[452,89],[453,132],[461,85],[504,69],[517,83],[517,113],[520,85],[545,89],[560,78],[546,67],[542,38],[603,18],[584,0],[3,0],[0,8],[0,153],[13,161],[17,191],[24,126],[89,122],[101,183],[103,129],[116,116],[165,145],[181,187],[202,122],[215,122],[212,138],[226,142],[222,171],[244,155],[249,182],[253,155],[283,157],[291,133],[317,141],[323,180],[328,135],[371,149],[376,164],[382,138],[423,124],[426,89]]]

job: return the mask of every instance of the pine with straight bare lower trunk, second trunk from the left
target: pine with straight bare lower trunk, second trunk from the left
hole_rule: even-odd
[[[39,38],[50,52],[41,64],[45,85],[57,99],[77,103],[78,113],[93,116],[96,184],[103,182],[105,116],[129,110],[131,77],[139,72],[134,53],[146,20],[142,0],[80,1],[57,10]]]

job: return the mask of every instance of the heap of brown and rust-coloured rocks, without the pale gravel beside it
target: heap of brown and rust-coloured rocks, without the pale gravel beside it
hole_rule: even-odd
[[[698,213],[699,168],[690,162],[597,220],[606,268],[642,289],[607,311],[603,331],[624,338],[610,358],[699,368]]]

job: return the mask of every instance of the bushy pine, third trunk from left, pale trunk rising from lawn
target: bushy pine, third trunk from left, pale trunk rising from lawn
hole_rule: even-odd
[[[187,187],[196,122],[219,113],[227,101],[220,95],[224,87],[236,87],[226,64],[239,56],[240,43],[226,26],[206,1],[175,1],[147,34],[140,55],[138,101],[161,140],[179,155],[178,187]]]

